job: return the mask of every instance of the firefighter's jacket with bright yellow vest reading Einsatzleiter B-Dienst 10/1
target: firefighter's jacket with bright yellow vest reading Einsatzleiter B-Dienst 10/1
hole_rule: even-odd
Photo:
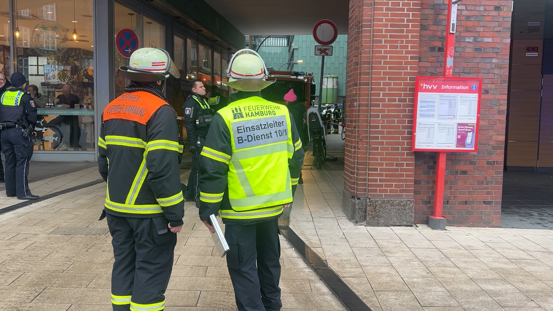
[[[213,116],[200,156],[200,219],[254,223],[280,216],[304,151],[288,108],[242,92]]]

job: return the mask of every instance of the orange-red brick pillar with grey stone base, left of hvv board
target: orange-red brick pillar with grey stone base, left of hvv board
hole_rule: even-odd
[[[349,2],[343,210],[356,222],[414,223],[420,9],[420,0]]]

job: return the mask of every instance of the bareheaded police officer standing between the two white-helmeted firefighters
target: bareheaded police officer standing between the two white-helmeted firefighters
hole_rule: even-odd
[[[192,170],[188,178],[188,188],[185,195],[187,201],[195,201],[200,206],[200,152],[204,147],[207,130],[215,111],[205,98],[206,88],[200,79],[190,81],[192,94],[184,101],[184,126],[188,135],[190,152],[192,153]]]

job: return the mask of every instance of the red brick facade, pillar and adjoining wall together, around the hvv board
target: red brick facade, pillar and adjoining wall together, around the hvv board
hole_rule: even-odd
[[[545,2],[545,1],[543,1]],[[447,225],[499,226],[512,1],[458,6],[454,76],[482,77],[477,153],[448,153]],[[343,210],[368,225],[426,223],[436,153],[412,152],[417,75],[440,76],[446,4],[350,1]]]

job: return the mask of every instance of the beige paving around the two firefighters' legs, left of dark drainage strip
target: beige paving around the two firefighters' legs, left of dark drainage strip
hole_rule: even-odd
[[[72,174],[42,183],[43,190],[99,177],[88,170]],[[41,185],[34,185],[37,193]],[[106,220],[98,221],[105,192],[101,183],[0,215],[0,311],[111,310],[111,236]],[[5,193],[0,200],[8,200]],[[165,310],[236,310],[226,260],[192,203],[184,221]],[[283,237],[281,248],[283,311],[345,310]]]

